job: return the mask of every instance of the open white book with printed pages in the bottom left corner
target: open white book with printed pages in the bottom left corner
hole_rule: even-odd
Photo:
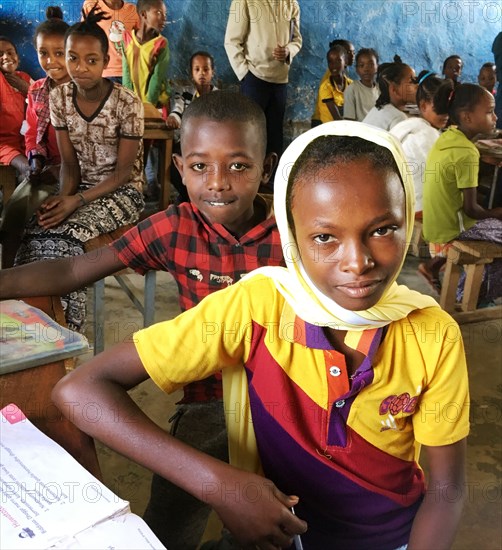
[[[16,405],[0,411],[0,548],[165,548],[110,491]]]

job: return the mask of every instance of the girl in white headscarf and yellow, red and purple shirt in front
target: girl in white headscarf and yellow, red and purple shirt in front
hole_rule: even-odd
[[[299,534],[305,549],[450,548],[463,503],[445,489],[464,483],[467,371],[452,318],[395,282],[413,200],[387,132],[357,122],[306,132],[275,181],[287,268],[136,333],[64,378],[55,402],[213,506],[240,545],[288,548]],[[127,395],[148,377],[170,392],[220,369],[232,465],[176,441]]]

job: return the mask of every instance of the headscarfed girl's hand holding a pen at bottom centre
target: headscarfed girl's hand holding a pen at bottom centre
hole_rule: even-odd
[[[293,535],[307,530],[290,510],[298,497],[285,495],[264,477],[234,470],[209,492],[209,504],[244,548],[289,548]]]

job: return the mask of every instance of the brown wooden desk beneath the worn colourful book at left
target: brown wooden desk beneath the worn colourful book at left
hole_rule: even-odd
[[[61,302],[57,297],[25,298],[24,301],[45,311],[64,324]],[[66,374],[64,361],[0,375],[0,408],[17,405],[27,418],[64,447],[84,468],[101,478],[94,441],[59,412],[51,400],[56,383]]]

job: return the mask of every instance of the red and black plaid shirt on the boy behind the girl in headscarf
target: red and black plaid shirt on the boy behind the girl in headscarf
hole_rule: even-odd
[[[236,239],[220,224],[210,225],[191,203],[170,206],[150,216],[112,243],[120,260],[138,273],[169,271],[182,311],[226,288],[253,269],[284,265],[271,202],[256,198],[266,219]],[[221,379],[210,377],[185,386],[182,403],[221,399]]]

